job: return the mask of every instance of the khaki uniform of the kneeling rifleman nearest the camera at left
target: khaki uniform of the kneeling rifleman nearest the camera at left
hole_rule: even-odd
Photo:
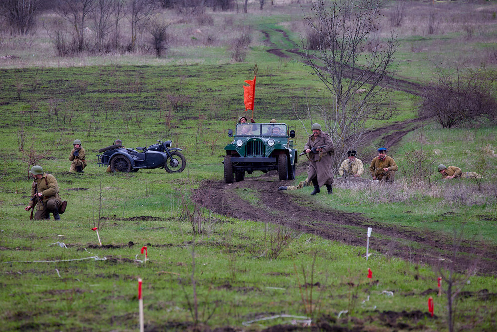
[[[33,200],[35,193],[42,193],[41,202],[38,198]],[[31,201],[29,205],[35,207],[36,203],[36,213],[34,219],[49,219],[50,213],[55,215],[59,214],[59,209],[62,204],[62,199],[59,196],[59,184],[55,177],[51,174],[43,172],[43,177],[41,179],[36,179],[31,185]]]

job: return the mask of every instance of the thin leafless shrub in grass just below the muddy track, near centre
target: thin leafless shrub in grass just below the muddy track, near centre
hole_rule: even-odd
[[[264,228],[264,239],[260,247],[252,249],[250,252],[255,258],[267,257],[276,259],[290,243],[300,236],[288,227],[283,225],[270,225],[266,222]]]

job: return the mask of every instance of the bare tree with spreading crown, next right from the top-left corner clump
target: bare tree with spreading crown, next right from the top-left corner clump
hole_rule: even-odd
[[[74,27],[76,50],[84,50],[84,32],[86,19],[96,6],[95,0],[59,0],[55,12]]]

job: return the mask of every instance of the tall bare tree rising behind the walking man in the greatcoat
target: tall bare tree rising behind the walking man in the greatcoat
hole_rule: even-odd
[[[358,147],[370,130],[367,124],[393,113],[385,105],[386,84],[395,72],[394,53],[399,42],[392,33],[382,42],[373,38],[382,16],[380,3],[316,0],[304,17],[316,36],[312,45],[302,40],[304,64],[331,94],[330,105],[318,105],[317,114],[335,143],[335,162],[347,149]],[[309,111],[313,111],[311,107]]]

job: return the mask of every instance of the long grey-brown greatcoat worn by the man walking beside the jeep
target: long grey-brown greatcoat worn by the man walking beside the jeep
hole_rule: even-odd
[[[314,179],[317,176],[318,185],[331,185],[333,183],[333,158],[335,147],[331,137],[323,131],[317,137],[309,136],[304,150],[312,149],[313,147],[325,146],[321,153],[308,153],[310,163],[307,169],[307,177]]]

